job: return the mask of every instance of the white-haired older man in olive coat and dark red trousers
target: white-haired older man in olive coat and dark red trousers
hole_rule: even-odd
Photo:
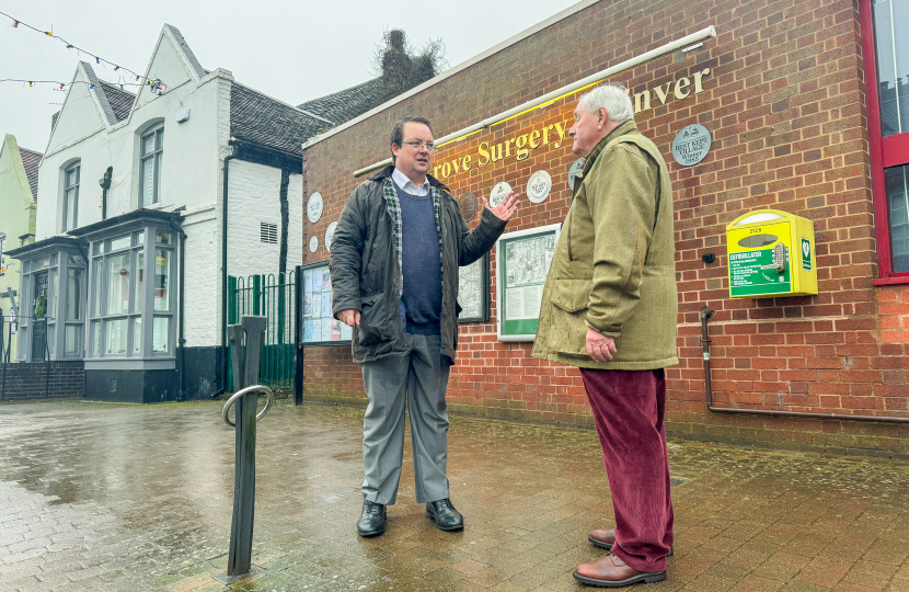
[[[588,537],[611,555],[574,576],[605,588],[658,582],[672,546],[663,428],[663,368],[678,364],[672,189],[623,88],[582,96],[568,134],[586,160],[546,278],[533,356],[580,368],[615,514],[614,530]]]

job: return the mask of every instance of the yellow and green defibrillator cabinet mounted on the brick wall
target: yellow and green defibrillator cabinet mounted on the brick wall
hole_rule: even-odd
[[[810,220],[757,209],[726,227],[732,298],[817,294],[815,230]]]

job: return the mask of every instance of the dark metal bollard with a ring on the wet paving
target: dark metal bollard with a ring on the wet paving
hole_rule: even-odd
[[[235,392],[225,403],[221,417],[225,423],[235,426],[237,462],[233,480],[233,520],[230,526],[230,550],[228,569],[215,579],[229,584],[250,574],[253,549],[253,517],[255,513],[255,423],[272,409],[275,395],[268,387],[257,385],[258,365],[262,357],[265,317],[243,317],[240,325],[228,327],[233,362],[233,385]],[[245,335],[245,352],[243,338]],[[245,353],[245,355],[244,355]],[[251,386],[254,385],[254,386]],[[265,408],[256,415],[257,394],[268,399]],[[237,405],[237,422],[231,422],[228,412]]]

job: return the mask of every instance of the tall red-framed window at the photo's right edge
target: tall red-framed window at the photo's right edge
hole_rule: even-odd
[[[879,278],[909,282],[909,0],[862,0]]]

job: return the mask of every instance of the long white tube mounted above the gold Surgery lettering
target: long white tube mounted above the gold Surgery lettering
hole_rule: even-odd
[[[713,27],[713,25],[710,25],[709,27],[702,29],[701,31],[698,31],[697,33],[686,35],[684,37],[682,37],[680,39],[669,42],[666,45],[661,45],[659,47],[651,49],[649,52],[645,52],[645,53],[641,54],[640,56],[629,58],[629,59],[626,59],[626,60],[624,60],[620,64],[617,64],[615,66],[607,68],[606,70],[601,70],[597,73],[590,75],[587,78],[582,78],[580,80],[578,80],[576,82],[572,82],[571,84],[568,84],[566,87],[562,87],[561,89],[556,89],[552,92],[548,92],[548,93],[543,94],[542,96],[538,96],[537,99],[532,99],[532,100],[530,100],[530,101],[528,101],[523,104],[520,104],[516,107],[511,107],[508,111],[503,111],[498,115],[493,115],[492,117],[487,117],[485,119],[482,119],[482,121],[480,121],[480,122],[477,122],[477,123],[475,123],[471,126],[464,127],[463,129],[459,129],[458,132],[454,132],[453,134],[448,134],[447,136],[442,136],[441,138],[436,140],[436,145],[440,146],[440,147],[445,146],[446,144],[450,144],[452,140],[456,140],[456,139],[458,139],[462,136],[465,136],[468,134],[472,134],[473,132],[477,132],[477,130],[484,129],[486,127],[491,127],[491,126],[497,124],[498,122],[500,122],[503,119],[507,119],[508,117],[517,115],[518,113],[522,113],[527,110],[533,109],[533,107],[536,107],[538,105],[541,105],[543,103],[546,103],[549,101],[553,101],[555,99],[559,99],[559,98],[561,98],[565,94],[569,94],[569,93],[576,91],[577,89],[582,89],[582,88],[584,88],[588,84],[592,84],[595,82],[599,82],[600,80],[620,75],[620,73],[622,73],[626,70],[631,70],[632,68],[641,66],[642,64],[646,64],[647,61],[651,61],[651,60],[654,60],[656,58],[663,57],[667,54],[674,54],[674,53],[678,52],[679,49],[684,49],[686,47],[688,47],[690,45],[694,45],[699,42],[703,42],[704,39],[709,39],[709,38],[715,37],[715,36],[716,36],[716,30]],[[387,158],[386,160],[382,160],[381,162],[370,164],[369,167],[366,167],[365,169],[354,171],[354,177],[361,177],[361,175],[364,175],[368,172],[372,172],[377,169],[381,169],[382,167],[388,167],[389,164],[391,164],[391,158]]]

